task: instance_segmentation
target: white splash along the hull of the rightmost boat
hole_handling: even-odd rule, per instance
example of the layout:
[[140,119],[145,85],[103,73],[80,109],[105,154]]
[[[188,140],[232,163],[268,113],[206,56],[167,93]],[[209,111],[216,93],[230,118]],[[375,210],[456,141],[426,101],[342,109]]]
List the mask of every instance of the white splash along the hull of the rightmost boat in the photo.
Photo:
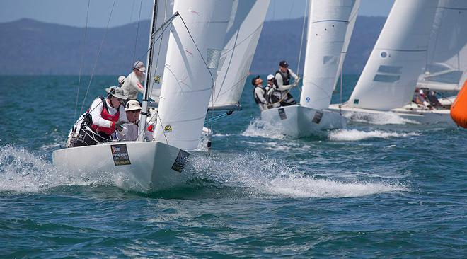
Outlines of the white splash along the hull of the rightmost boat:
[[405,119],[400,117],[396,113],[345,113],[344,117],[347,117],[350,120],[355,122],[366,122],[376,125],[387,125],[387,124],[398,124],[403,125],[407,123],[412,124],[420,124],[420,122],[416,122],[414,120]]

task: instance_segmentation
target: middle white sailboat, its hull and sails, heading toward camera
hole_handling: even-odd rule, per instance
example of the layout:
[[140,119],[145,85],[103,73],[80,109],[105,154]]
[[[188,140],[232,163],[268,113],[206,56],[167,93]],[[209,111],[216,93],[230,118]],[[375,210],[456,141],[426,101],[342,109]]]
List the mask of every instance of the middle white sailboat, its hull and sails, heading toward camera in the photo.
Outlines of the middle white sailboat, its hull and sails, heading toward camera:
[[345,127],[345,117],[328,110],[328,105],[358,8],[359,0],[311,1],[300,103],[263,110],[262,120],[278,125],[282,133],[291,137],[307,137],[324,129]]

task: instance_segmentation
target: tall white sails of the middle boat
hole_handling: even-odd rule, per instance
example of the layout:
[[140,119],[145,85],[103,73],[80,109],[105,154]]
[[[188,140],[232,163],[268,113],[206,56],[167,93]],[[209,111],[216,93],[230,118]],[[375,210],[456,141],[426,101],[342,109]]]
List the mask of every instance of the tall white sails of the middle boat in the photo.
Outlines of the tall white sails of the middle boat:
[[311,1],[304,86],[300,96],[302,106],[328,108],[358,7],[357,0]]

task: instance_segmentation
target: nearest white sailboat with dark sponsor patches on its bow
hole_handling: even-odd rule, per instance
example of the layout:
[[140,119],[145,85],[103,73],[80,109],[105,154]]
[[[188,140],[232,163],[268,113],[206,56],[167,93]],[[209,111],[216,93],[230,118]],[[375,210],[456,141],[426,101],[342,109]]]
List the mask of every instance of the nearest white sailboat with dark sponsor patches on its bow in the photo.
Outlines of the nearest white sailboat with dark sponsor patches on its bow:
[[[171,25],[167,41],[163,87],[158,96],[158,120],[154,141],[107,142],[95,146],[59,149],[52,154],[52,162],[61,171],[76,174],[102,175],[112,173],[125,179],[122,188],[154,192],[185,183],[183,171],[190,151],[197,148],[204,117],[212,93],[219,57],[224,47],[228,17],[233,0],[175,0],[170,17],[154,1],[149,37],[148,71],[144,86],[142,117],[146,122],[148,83],[157,62],[158,28]],[[163,1],[162,1],[163,2]],[[161,11],[163,9],[163,11]],[[165,23],[158,19],[167,18]],[[162,50],[163,51],[163,50]],[[144,130],[146,127],[140,127]]]

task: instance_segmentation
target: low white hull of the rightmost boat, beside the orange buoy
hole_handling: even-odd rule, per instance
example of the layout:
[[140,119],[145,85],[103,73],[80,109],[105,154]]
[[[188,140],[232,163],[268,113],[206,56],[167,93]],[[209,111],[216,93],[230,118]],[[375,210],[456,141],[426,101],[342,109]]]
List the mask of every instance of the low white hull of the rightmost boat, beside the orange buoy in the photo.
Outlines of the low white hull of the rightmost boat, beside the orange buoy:
[[388,111],[384,110],[371,110],[371,109],[363,109],[363,108],[354,108],[348,107],[346,105],[341,105],[339,108],[338,104],[329,105],[329,110],[333,110],[335,112],[341,112],[342,115],[349,118],[350,120],[357,119],[359,121],[362,120],[365,116],[369,117],[369,122],[371,122],[371,118],[374,116],[379,115],[387,115],[388,113],[393,113],[398,115],[399,117],[410,120],[415,123],[422,123],[422,124],[437,124],[443,123],[449,126],[454,126],[454,121],[451,119],[449,109],[434,109],[429,110],[428,108],[420,108],[418,105],[411,104],[405,105],[402,108],[396,108]]

